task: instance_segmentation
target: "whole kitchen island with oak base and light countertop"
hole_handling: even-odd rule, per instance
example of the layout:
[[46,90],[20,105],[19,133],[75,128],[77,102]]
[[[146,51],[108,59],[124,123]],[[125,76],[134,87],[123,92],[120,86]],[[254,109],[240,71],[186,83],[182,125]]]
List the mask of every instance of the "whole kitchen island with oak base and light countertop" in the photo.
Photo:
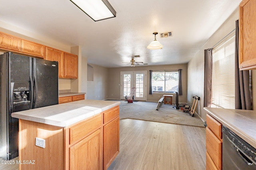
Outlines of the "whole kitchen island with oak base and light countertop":
[[80,100],[12,113],[20,170],[107,169],[119,153],[119,104]]

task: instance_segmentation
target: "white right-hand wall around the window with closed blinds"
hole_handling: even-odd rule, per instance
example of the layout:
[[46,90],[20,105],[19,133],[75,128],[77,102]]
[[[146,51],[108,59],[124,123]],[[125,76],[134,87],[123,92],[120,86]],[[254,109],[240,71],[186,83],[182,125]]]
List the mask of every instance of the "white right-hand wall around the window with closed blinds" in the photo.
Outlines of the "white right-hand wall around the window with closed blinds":
[[[206,121],[206,111],[204,111],[204,49],[212,48],[223,39],[228,33],[236,28],[236,20],[239,18],[238,8],[220,26],[220,28],[208,39],[204,46],[188,63],[188,103],[193,102],[193,96],[199,96],[198,114]],[[206,23],[207,24],[207,23]]]

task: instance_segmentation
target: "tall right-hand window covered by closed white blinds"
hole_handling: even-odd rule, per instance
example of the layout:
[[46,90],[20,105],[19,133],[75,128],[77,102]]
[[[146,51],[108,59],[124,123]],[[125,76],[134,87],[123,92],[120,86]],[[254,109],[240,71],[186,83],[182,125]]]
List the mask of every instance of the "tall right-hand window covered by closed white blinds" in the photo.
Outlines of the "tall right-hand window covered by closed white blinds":
[[212,51],[212,104],[235,108],[235,31]]

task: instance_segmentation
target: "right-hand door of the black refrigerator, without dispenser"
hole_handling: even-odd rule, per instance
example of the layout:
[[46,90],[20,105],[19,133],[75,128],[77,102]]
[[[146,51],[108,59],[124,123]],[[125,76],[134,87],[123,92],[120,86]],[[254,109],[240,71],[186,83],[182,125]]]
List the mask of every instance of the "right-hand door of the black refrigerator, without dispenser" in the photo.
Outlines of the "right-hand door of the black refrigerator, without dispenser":
[[58,104],[58,62],[34,59],[33,108]]

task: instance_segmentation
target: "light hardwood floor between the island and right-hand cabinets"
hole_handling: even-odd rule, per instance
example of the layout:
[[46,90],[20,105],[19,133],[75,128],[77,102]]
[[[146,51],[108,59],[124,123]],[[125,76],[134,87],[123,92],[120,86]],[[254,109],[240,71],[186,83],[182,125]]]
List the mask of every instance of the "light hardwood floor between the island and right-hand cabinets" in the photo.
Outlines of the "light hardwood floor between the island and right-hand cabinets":
[[108,170],[205,170],[205,128],[120,120],[120,153]]

